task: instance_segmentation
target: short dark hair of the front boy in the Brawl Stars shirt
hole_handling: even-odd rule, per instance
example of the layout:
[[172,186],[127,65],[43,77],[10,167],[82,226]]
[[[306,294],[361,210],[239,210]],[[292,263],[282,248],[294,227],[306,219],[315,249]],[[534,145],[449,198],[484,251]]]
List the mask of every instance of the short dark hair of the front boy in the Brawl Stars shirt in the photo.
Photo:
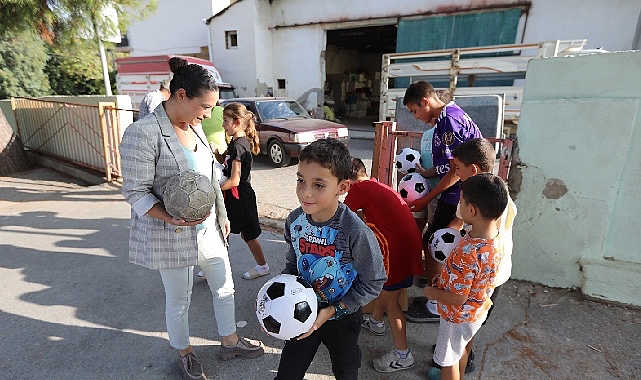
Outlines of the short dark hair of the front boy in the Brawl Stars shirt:
[[338,181],[349,178],[352,168],[352,158],[349,150],[340,141],[332,138],[316,140],[307,145],[301,152],[298,161],[312,161],[329,169]]

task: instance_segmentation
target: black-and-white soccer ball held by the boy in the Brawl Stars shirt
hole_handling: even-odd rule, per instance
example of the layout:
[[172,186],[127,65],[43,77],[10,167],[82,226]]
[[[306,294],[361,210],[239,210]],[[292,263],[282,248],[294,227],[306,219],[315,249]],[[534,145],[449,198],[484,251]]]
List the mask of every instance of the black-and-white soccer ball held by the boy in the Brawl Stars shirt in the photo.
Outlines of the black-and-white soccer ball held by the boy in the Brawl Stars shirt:
[[291,274],[270,279],[258,291],[258,322],[269,335],[278,339],[289,340],[309,331],[317,311],[314,289]]

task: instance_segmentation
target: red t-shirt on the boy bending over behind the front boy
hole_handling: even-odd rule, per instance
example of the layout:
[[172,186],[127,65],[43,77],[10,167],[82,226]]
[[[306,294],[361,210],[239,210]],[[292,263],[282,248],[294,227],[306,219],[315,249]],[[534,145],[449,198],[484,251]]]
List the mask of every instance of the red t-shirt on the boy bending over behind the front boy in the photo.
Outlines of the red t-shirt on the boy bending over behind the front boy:
[[345,205],[362,210],[383,253],[387,282],[397,284],[423,273],[423,242],[416,221],[401,196],[375,178],[350,186]]

